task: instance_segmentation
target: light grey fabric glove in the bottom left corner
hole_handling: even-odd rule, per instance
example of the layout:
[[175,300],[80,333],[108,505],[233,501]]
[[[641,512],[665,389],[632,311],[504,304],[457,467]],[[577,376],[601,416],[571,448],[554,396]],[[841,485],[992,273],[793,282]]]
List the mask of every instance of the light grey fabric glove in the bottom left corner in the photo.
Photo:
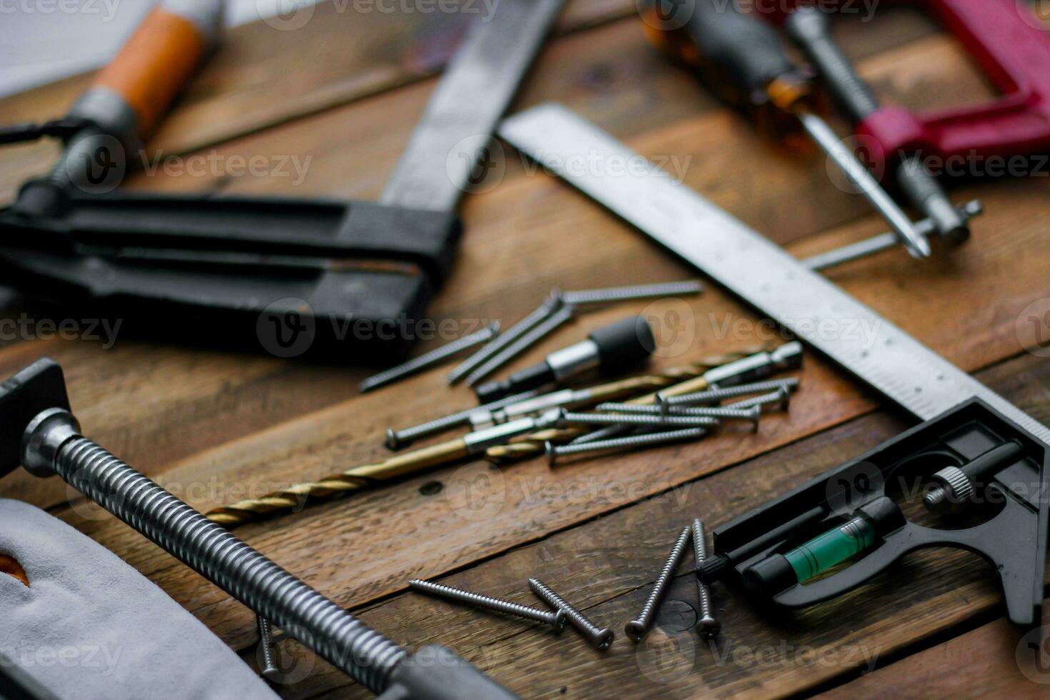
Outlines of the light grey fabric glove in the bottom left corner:
[[0,500],[0,652],[60,698],[277,697],[164,591],[39,508]]

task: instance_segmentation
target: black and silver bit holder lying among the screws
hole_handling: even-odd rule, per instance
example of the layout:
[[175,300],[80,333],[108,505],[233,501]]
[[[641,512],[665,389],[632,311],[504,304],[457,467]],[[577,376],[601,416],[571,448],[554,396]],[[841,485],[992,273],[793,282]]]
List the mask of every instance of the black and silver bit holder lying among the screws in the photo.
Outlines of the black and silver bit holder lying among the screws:
[[512,374],[503,381],[488,382],[476,391],[481,403],[566,381],[597,369],[603,377],[624,372],[647,359],[656,348],[652,328],[644,316],[628,316],[594,331],[587,340],[548,355],[543,362]]

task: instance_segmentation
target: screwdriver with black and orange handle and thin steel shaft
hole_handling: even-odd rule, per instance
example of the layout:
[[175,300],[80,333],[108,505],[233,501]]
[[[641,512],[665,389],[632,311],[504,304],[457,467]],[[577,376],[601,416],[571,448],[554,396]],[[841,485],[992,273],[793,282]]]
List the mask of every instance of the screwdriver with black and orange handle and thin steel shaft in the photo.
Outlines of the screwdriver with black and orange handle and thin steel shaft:
[[759,132],[788,144],[802,132],[842,169],[889,222],[907,251],[928,257],[929,241],[867,168],[819,115],[810,76],[794,64],[776,30],[741,13],[734,2],[647,0],[643,20],[649,39],[693,67],[701,82],[755,122]]

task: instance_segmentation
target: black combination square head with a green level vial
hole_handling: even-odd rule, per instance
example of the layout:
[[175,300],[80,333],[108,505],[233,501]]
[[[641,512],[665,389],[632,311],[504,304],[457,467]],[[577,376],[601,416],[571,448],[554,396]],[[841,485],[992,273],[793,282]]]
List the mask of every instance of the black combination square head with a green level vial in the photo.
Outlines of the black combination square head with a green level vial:
[[[1014,624],[1037,625],[1048,465],[1047,445],[974,398],[717,528],[716,554],[699,574],[795,609],[852,591],[915,550],[959,548],[994,567]],[[983,496],[961,510],[984,519],[960,529],[905,519],[894,499],[915,485],[943,489],[949,467],[966,473]],[[835,569],[843,563],[849,564]]]

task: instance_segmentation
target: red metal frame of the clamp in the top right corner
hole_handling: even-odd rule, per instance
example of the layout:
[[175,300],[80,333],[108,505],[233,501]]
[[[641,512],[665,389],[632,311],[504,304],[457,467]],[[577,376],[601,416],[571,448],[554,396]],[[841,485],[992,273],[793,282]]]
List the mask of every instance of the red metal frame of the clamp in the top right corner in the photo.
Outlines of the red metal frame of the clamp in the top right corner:
[[1002,92],[991,102],[915,113],[880,109],[857,125],[884,153],[952,156],[1050,151],[1050,34],[1015,0],[907,0],[928,6]]

